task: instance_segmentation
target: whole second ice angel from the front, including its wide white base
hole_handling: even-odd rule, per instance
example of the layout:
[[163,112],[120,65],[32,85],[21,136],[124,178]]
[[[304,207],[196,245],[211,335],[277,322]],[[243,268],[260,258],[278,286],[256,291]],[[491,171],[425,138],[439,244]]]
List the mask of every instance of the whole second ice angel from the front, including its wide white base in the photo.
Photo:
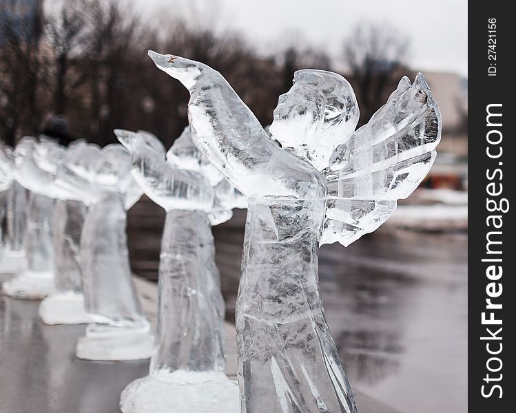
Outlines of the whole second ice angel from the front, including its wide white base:
[[237,413],[238,385],[225,373],[224,301],[211,225],[245,206],[193,144],[189,128],[166,153],[147,132],[115,131],[132,173],[167,212],[159,265],[158,332],[149,375],[127,385],[123,413]]

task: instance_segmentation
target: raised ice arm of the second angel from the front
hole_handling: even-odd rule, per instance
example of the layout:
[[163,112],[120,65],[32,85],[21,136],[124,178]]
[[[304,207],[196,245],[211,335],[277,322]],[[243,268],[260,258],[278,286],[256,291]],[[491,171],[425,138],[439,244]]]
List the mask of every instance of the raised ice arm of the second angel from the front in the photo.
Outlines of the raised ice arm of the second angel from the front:
[[169,165],[141,134],[121,129],[116,129],[115,134],[131,152],[134,179],[156,204],[167,211],[211,209],[214,191],[203,176]]

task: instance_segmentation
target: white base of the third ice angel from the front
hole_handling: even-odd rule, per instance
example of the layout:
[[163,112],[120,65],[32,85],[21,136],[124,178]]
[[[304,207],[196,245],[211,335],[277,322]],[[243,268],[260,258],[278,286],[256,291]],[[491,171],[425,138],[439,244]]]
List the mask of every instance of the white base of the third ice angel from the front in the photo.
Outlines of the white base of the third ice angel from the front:
[[85,360],[123,361],[148,359],[154,337],[149,328],[121,328],[90,324],[77,341],[77,357]]

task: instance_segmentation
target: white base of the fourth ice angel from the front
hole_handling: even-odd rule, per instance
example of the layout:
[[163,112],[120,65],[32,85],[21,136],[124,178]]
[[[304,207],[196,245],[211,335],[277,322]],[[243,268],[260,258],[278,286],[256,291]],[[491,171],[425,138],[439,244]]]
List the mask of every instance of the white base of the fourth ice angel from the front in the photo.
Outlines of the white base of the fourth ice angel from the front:
[[88,324],[93,320],[84,309],[84,297],[81,293],[56,293],[46,297],[39,305],[39,317],[43,323]]

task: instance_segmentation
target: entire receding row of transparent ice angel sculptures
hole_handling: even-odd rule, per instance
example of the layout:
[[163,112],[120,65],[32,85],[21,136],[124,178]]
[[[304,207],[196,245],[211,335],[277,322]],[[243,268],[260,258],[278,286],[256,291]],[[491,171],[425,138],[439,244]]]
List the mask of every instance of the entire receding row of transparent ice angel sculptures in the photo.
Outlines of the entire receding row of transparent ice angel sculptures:
[[[122,145],[103,149],[33,138],[1,148],[0,271],[18,271],[3,291],[46,297],[46,324],[89,323],[79,358],[151,358],[149,375],[122,393],[124,413],[356,412],[324,319],[318,248],[375,231],[426,176],[441,131],[426,81],[402,78],[355,130],[351,85],[300,70],[267,132],[215,70],[149,56],[191,95],[189,127],[169,151],[152,134],[123,130],[114,131]],[[143,193],[167,213],[154,345],[125,235],[126,211]],[[237,385],[224,373],[211,226],[245,207]]]

